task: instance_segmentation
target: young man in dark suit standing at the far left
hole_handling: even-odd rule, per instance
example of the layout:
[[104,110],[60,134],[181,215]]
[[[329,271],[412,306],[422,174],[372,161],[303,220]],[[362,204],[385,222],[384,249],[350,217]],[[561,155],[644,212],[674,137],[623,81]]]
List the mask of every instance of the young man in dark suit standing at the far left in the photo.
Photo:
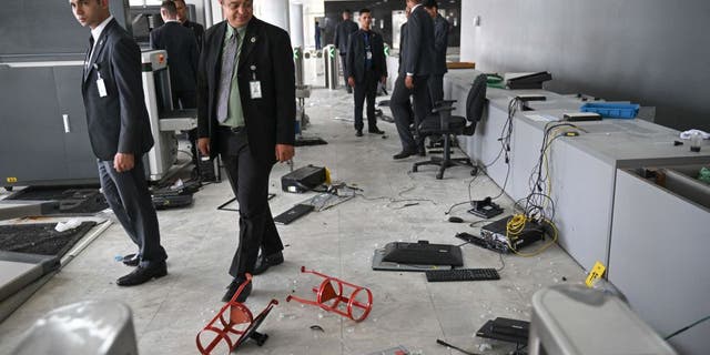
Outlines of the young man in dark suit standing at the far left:
[[70,0],[70,4],[79,23],[91,28],[81,92],[101,187],[139,247],[135,257],[124,257],[126,265],[138,267],[116,284],[138,285],[168,274],[142,163],[153,136],[141,84],[141,51],[109,12],[109,0]]

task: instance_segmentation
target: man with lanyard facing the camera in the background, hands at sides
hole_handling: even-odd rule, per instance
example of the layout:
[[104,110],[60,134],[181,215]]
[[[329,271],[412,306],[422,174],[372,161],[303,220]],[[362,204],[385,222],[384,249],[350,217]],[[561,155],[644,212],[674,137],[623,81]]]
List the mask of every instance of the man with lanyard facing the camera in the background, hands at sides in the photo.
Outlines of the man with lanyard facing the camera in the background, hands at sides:
[[363,136],[363,103],[367,98],[367,130],[384,134],[377,128],[375,95],[377,82],[387,81],[387,62],[382,36],[371,31],[369,9],[359,10],[361,30],[351,34],[347,44],[347,84],[355,89],[355,135]]

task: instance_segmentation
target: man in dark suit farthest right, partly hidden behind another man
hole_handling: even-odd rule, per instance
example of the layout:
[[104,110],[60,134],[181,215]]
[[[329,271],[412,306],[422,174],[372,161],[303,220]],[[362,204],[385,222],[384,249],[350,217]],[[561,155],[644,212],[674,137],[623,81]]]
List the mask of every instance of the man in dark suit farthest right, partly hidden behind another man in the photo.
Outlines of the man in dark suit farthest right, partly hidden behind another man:
[[429,77],[429,97],[432,104],[444,100],[444,74],[448,72],[446,68],[446,48],[448,45],[448,21],[439,14],[436,0],[425,0],[424,8],[434,19],[434,51],[436,60],[434,72]]

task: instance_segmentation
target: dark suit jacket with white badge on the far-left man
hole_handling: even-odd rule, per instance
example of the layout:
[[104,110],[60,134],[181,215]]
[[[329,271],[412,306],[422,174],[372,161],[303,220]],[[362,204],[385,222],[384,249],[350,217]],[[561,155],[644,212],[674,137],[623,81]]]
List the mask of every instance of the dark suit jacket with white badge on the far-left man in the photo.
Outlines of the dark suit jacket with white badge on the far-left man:
[[[103,161],[113,160],[119,152],[140,159],[153,146],[143,97],[141,50],[115,20],[106,24],[98,41],[81,85],[91,148]],[[91,48],[85,61],[90,53]],[[103,98],[99,94],[99,75],[106,91]]]

